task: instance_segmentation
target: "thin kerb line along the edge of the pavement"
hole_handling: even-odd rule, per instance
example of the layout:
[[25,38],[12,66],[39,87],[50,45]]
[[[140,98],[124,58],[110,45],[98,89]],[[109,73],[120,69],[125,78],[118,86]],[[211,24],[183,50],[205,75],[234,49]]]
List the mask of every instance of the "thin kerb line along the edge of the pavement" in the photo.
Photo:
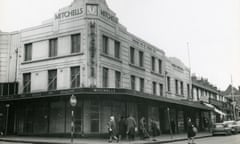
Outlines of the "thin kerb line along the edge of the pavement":
[[[212,135],[206,135],[206,136],[200,136],[196,137],[195,139],[202,139],[202,138],[207,138],[207,137],[212,137]],[[179,139],[171,139],[171,140],[164,140],[164,141],[151,141],[151,142],[145,142],[142,144],[164,144],[164,143],[171,143],[171,142],[178,142],[178,141],[185,141],[187,138],[179,138]],[[17,143],[33,143],[33,144],[66,144],[66,143],[56,143],[56,142],[38,142],[38,141],[26,141],[26,140],[10,140],[10,139],[4,139],[0,138],[0,141],[3,142],[17,142]],[[85,143],[77,143],[77,144],[85,144]]]

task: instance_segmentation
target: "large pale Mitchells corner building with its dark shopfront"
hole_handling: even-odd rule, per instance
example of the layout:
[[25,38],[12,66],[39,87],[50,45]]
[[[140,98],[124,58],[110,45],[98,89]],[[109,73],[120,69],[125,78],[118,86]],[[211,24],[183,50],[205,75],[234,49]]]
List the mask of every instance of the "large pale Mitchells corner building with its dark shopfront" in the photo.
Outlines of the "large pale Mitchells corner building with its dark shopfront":
[[189,101],[189,69],[129,33],[105,0],[74,0],[42,25],[5,37],[3,59],[13,68],[3,74],[18,82],[18,94],[0,97],[8,134],[70,134],[71,95],[79,136],[106,134],[111,115],[153,119],[161,133],[172,120],[176,132],[186,131],[188,117],[207,127],[211,108]]

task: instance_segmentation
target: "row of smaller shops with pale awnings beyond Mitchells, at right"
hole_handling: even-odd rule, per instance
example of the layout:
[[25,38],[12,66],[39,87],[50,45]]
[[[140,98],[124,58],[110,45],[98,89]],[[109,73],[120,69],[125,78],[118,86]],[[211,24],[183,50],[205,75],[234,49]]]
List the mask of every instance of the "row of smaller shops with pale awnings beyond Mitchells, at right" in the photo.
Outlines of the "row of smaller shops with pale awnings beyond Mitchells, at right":
[[192,96],[193,101],[201,101],[206,106],[213,108],[212,122],[233,119],[232,101],[207,79],[192,77]]

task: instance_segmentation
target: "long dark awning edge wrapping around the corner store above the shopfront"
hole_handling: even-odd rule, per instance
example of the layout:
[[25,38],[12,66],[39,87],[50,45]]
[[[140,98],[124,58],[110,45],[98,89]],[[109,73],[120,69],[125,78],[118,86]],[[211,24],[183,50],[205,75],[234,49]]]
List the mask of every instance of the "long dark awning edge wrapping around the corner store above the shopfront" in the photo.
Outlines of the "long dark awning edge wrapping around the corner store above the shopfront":
[[206,105],[200,102],[193,102],[188,100],[177,100],[172,98],[167,98],[163,96],[156,96],[152,94],[142,93],[138,91],[133,91],[129,89],[112,89],[112,88],[78,88],[78,89],[67,89],[67,90],[57,90],[57,91],[46,91],[46,92],[37,92],[37,93],[28,93],[13,95],[1,98],[1,101],[10,101],[10,100],[23,100],[23,99],[37,99],[37,98],[46,98],[46,97],[60,97],[60,96],[71,96],[71,95],[111,95],[111,97],[119,98],[129,98],[129,97],[138,97],[144,98],[147,100],[154,100],[158,102],[164,102],[169,104],[177,104],[181,106],[201,109],[205,111],[211,111],[212,108],[207,107]]

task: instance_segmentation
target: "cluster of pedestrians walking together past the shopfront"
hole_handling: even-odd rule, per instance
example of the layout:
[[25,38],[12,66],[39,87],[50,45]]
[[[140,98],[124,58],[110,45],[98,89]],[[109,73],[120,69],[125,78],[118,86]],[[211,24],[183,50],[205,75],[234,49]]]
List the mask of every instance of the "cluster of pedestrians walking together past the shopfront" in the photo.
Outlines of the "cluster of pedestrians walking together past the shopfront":
[[[140,119],[138,127],[136,120],[132,115],[129,115],[126,118],[122,116],[118,122],[116,122],[114,116],[111,116],[107,123],[107,127],[109,143],[113,141],[119,142],[122,139],[133,141],[137,133],[139,133],[141,139],[150,138],[145,117]],[[150,133],[152,134],[154,141],[156,140],[154,137],[160,134],[157,121],[154,121],[153,119],[150,120]]]

